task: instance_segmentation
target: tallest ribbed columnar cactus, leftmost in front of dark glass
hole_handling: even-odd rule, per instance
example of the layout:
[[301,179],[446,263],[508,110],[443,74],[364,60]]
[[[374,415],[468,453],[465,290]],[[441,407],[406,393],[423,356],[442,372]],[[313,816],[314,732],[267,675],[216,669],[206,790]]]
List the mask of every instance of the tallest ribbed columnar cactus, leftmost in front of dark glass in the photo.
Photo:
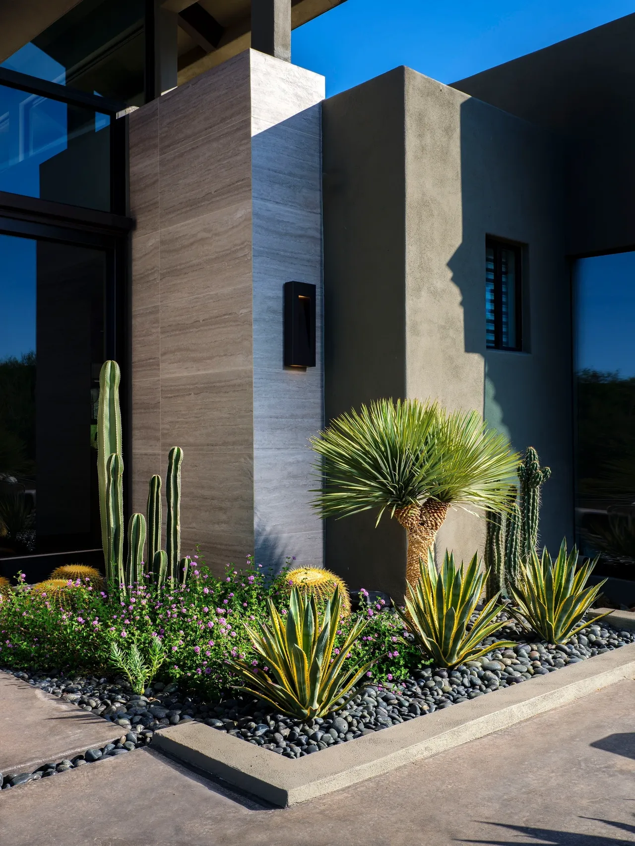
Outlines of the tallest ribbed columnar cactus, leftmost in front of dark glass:
[[119,410],[119,382],[121,374],[116,361],[106,361],[99,374],[99,409],[97,412],[97,479],[99,486],[99,514],[102,522],[102,548],[108,573],[108,510],[106,504],[106,463],[113,453],[121,455],[121,412]]

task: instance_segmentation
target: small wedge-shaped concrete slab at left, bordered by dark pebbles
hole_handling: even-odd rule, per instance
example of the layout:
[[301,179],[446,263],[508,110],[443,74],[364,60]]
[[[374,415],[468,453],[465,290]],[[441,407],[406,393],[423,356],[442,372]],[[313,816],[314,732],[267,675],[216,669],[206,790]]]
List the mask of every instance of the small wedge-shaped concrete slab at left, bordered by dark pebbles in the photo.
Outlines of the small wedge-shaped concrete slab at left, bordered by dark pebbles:
[[0,673],[0,772],[29,772],[120,736],[112,722]]

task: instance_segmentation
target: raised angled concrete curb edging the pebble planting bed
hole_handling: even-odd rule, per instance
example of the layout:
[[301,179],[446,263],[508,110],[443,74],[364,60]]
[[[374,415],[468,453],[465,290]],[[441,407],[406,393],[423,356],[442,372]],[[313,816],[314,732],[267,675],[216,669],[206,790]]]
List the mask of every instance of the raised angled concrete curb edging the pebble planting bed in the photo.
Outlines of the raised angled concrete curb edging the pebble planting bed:
[[[635,628],[635,614],[631,619]],[[618,624],[613,615],[607,622]],[[621,618],[619,625],[627,628]],[[295,761],[202,722],[157,732],[152,748],[285,807],[508,728],[624,678],[635,678],[635,644]]]

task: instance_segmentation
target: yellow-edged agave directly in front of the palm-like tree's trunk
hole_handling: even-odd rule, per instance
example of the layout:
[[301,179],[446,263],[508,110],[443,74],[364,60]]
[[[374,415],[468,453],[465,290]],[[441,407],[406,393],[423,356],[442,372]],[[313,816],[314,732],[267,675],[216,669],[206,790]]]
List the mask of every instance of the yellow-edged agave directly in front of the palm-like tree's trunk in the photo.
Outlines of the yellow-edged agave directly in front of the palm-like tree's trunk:
[[419,648],[436,666],[456,667],[494,649],[513,646],[509,640],[482,644],[502,625],[496,619],[503,610],[498,602],[500,594],[493,596],[472,621],[488,576],[480,569],[476,555],[465,569],[462,561],[456,568],[454,555],[445,552],[443,566],[437,573],[432,552],[428,551],[428,563],[421,562],[419,572],[417,584],[408,585],[406,611],[397,608],[397,612]]

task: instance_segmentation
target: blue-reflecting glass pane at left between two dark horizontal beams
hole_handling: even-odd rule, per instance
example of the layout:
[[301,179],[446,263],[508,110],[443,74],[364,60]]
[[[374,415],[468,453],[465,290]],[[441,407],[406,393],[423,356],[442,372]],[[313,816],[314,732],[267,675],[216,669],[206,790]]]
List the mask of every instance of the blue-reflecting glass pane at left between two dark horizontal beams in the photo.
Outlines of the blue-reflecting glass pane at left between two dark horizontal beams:
[[0,190],[110,211],[108,123],[0,85]]

